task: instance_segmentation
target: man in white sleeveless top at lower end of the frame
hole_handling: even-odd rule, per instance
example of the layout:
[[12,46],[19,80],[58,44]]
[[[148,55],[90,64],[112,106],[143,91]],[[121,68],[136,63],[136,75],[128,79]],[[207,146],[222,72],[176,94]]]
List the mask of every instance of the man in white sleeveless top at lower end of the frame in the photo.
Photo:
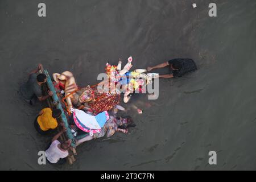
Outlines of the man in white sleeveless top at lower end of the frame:
[[71,140],[65,142],[59,142],[58,138],[61,134],[65,132],[66,129],[63,129],[52,138],[52,143],[49,148],[46,150],[46,159],[52,164],[64,164],[66,162],[65,158],[68,156],[68,149],[71,146]]

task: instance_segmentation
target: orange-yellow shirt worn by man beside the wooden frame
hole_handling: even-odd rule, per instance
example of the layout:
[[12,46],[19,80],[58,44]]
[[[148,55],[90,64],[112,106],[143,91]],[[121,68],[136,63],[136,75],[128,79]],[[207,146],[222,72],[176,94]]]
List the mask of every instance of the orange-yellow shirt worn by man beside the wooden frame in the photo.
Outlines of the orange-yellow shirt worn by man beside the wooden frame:
[[57,120],[52,117],[51,108],[47,107],[42,109],[42,114],[38,116],[38,125],[40,129],[43,131],[47,131],[49,129],[56,129],[58,126]]

